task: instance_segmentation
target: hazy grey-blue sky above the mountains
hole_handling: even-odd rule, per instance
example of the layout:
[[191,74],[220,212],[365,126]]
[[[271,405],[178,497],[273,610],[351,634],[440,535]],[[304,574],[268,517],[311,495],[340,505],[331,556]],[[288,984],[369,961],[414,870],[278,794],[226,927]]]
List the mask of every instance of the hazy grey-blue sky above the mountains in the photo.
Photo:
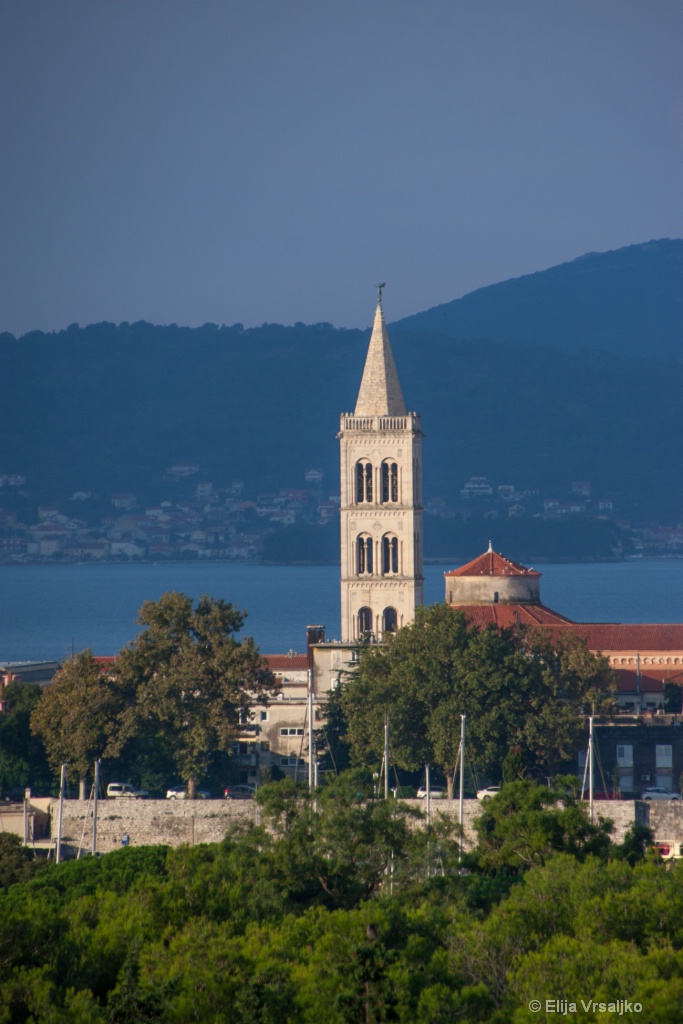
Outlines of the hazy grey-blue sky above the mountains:
[[683,236],[681,0],[0,0],[0,330],[366,326]]

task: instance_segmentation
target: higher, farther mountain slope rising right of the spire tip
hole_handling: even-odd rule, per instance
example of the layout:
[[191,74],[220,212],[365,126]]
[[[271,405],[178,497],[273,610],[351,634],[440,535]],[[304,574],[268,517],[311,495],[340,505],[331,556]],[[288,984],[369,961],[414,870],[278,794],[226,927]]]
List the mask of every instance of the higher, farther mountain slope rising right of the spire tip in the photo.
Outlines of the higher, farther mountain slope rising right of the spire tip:
[[588,253],[391,325],[510,344],[683,358],[683,240]]

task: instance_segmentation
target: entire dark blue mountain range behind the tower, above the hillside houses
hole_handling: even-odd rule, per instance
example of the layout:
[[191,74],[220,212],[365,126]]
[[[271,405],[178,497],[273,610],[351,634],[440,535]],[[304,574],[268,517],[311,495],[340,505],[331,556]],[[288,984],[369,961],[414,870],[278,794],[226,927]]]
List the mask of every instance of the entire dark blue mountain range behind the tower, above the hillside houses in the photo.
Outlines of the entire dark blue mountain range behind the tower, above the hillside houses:
[[[639,275],[647,280],[639,284]],[[681,521],[682,280],[683,242],[648,243],[494,285],[390,326],[405,402],[422,413],[427,435],[426,497],[456,500],[470,476],[549,498],[588,480],[620,514]],[[541,331],[553,294],[556,329]],[[449,318],[453,307],[469,319]],[[522,330],[524,308],[530,327]],[[455,323],[458,337],[447,333]],[[505,337],[482,340],[496,324]],[[0,335],[0,478],[27,476],[35,504],[77,490],[104,502],[135,492],[158,503],[168,497],[165,471],[178,462],[200,465],[216,485],[243,479],[250,495],[300,486],[312,467],[324,472],[325,495],[337,494],[339,415],[354,408],[368,338],[329,324],[144,322]],[[6,497],[0,490],[0,506]]]

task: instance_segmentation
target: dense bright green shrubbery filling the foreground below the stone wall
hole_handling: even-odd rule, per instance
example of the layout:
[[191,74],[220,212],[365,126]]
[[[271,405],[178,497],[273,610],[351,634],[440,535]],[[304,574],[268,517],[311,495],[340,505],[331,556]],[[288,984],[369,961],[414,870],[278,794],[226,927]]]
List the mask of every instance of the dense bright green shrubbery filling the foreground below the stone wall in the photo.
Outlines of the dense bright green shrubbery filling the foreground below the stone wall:
[[459,864],[452,825],[415,828],[370,792],[349,772],[315,809],[274,783],[264,824],[222,844],[17,881],[0,899],[0,1021],[504,1024],[546,1020],[529,999],[584,997],[678,1024],[683,871],[643,858],[642,837],[614,846],[571,797],[516,782]]

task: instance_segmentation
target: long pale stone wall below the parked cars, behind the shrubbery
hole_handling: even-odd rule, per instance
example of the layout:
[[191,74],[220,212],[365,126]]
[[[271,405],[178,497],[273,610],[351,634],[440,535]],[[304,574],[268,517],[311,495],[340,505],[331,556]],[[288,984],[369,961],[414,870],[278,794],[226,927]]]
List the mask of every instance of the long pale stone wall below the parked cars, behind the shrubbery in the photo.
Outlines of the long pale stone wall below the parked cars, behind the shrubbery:
[[[427,810],[424,800],[404,803],[423,813]],[[613,820],[612,837],[618,843],[636,819],[636,806],[638,820],[653,827],[657,839],[683,839],[681,803],[636,805],[631,800],[599,801],[595,804],[595,814]],[[55,841],[58,800],[51,802],[50,810],[52,840]],[[466,800],[463,810],[466,842],[471,846],[474,843],[473,822],[481,813],[481,804],[477,800]],[[458,801],[432,800],[431,813],[434,817],[445,814],[457,820]],[[120,849],[124,836],[128,837],[129,846],[219,843],[232,822],[259,820],[259,809],[253,800],[100,800],[97,805],[97,850],[109,853]],[[84,852],[90,850],[91,804],[84,800],[65,801],[61,837],[67,855],[75,855],[79,845]]]

